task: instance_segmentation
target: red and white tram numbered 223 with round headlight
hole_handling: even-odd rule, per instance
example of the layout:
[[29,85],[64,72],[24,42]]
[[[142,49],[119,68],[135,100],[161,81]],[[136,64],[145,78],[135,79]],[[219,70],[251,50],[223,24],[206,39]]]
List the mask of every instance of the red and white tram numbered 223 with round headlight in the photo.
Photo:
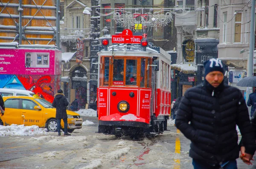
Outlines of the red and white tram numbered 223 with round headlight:
[[[126,29],[128,30],[128,29]],[[129,135],[163,133],[171,111],[171,56],[158,47],[122,44],[99,55],[97,113],[99,133]]]

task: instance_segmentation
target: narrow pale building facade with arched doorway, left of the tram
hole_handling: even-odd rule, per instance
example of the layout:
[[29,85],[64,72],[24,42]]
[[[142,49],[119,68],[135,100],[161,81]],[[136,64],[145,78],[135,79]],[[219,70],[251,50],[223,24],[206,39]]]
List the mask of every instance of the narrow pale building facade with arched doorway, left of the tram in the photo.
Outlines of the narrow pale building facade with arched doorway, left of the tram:
[[84,8],[91,0],[64,0],[61,18],[62,73],[61,86],[70,104],[77,99],[79,109],[90,103],[90,14]]

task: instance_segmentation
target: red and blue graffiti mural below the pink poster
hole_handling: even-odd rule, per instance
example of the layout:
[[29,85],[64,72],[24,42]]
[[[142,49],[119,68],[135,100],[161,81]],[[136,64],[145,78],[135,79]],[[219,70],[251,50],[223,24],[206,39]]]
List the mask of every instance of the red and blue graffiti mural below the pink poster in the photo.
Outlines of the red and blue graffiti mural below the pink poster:
[[55,93],[55,75],[0,74],[0,88],[30,90],[52,103]]

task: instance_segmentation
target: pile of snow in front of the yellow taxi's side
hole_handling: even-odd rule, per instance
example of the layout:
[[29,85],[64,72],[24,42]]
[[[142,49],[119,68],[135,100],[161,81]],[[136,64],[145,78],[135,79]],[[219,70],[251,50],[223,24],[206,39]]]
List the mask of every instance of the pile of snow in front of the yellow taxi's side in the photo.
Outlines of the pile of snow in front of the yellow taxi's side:
[[40,129],[38,126],[24,126],[12,124],[11,126],[0,126],[0,136],[12,135],[46,135],[48,132],[45,129]]

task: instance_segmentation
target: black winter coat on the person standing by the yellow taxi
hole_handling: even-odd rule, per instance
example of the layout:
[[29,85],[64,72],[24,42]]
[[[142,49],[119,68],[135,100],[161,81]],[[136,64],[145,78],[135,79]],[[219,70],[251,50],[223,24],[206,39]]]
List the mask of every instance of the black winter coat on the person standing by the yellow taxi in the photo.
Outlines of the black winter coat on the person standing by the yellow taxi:
[[68,101],[62,93],[56,93],[54,95],[52,106],[56,108],[56,119],[67,118],[66,107],[68,106]]

